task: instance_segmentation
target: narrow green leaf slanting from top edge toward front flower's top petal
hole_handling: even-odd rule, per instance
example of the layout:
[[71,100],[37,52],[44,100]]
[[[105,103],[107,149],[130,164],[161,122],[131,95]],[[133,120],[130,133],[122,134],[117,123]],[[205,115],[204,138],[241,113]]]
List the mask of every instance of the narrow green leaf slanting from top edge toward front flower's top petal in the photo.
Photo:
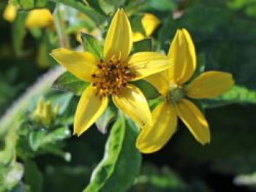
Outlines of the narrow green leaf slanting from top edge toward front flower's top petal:
[[103,15],[99,14],[99,12],[95,11],[93,8],[87,6],[83,1],[80,0],[49,0],[60,4],[65,4],[69,7],[73,7],[78,9],[80,12],[83,12],[87,15],[91,20],[94,20],[95,23],[98,25],[102,23],[105,18]]

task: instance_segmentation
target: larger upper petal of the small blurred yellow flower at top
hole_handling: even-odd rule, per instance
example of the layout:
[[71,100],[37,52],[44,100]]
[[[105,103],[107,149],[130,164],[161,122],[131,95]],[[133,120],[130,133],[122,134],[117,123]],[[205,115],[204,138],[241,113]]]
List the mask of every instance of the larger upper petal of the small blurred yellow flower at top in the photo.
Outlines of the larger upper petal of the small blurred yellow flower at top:
[[141,18],[141,24],[145,30],[146,37],[149,37],[153,34],[157,26],[159,26],[160,20],[156,16],[146,13],[143,15],[143,18]]

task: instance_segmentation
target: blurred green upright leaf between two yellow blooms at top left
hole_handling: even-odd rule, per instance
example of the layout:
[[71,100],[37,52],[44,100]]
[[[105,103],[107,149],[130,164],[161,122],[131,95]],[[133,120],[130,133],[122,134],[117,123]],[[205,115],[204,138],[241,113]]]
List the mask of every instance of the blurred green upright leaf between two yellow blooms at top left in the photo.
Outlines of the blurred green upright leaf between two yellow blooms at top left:
[[16,55],[22,55],[23,40],[26,36],[26,12],[18,12],[12,24],[12,45]]

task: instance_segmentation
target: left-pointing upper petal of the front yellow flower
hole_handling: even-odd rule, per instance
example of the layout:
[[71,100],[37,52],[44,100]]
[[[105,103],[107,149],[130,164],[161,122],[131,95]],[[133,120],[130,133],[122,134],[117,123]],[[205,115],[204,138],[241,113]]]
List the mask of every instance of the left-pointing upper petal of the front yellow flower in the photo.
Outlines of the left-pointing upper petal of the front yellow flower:
[[75,52],[64,48],[53,50],[50,55],[69,72],[87,82],[91,81],[91,74],[97,69],[99,62],[89,52]]

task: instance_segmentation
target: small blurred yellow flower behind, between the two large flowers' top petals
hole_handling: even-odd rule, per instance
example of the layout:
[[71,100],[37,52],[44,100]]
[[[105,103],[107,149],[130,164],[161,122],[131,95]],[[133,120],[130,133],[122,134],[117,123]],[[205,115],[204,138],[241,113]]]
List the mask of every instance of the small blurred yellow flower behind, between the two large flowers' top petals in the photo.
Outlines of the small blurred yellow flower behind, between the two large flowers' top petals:
[[132,34],[132,39],[134,42],[138,42],[146,37],[150,37],[153,34],[154,30],[159,26],[160,20],[150,13],[145,13],[143,18],[141,18],[141,24],[145,31],[145,35],[141,34],[140,32],[134,32]]

